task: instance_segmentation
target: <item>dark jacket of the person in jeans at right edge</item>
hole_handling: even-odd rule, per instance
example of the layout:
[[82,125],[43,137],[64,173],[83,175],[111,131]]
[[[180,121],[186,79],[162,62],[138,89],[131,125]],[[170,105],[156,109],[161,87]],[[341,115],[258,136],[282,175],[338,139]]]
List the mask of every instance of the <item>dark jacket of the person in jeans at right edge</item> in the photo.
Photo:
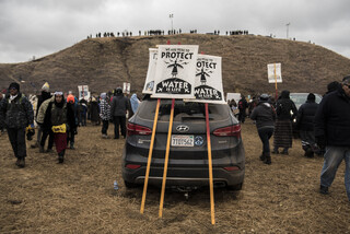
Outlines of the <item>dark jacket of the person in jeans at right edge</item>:
[[325,137],[327,145],[350,147],[350,97],[342,87],[327,94],[319,103],[315,137]]

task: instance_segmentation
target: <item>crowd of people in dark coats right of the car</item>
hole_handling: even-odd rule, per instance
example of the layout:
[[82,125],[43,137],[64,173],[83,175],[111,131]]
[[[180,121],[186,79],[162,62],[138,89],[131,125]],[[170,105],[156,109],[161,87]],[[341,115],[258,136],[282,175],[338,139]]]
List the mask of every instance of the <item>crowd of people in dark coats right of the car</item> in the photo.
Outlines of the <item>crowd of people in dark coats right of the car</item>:
[[[289,154],[293,142],[292,122],[296,119],[294,126],[300,133],[304,156],[313,157],[316,154],[324,157],[319,192],[329,194],[328,188],[345,160],[345,185],[350,201],[350,75],[341,82],[329,83],[327,89],[319,104],[315,102],[315,94],[310,93],[299,109],[288,90],[282,91],[276,102],[268,94],[261,94],[248,103],[242,95],[238,103],[232,101],[230,106],[241,124],[245,122],[249,109],[248,116],[254,120],[262,143],[259,157],[266,164],[271,164],[271,153]],[[272,136],[271,151],[269,140]]]

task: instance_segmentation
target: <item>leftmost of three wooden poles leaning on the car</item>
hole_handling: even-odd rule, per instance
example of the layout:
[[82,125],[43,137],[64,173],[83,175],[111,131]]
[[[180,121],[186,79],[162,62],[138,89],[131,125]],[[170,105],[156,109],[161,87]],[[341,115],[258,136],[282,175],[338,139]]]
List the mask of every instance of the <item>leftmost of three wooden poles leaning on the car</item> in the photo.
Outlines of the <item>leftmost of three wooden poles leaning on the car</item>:
[[140,213],[143,213],[143,210],[144,210],[147,186],[148,186],[149,176],[150,176],[150,167],[151,167],[151,161],[152,161],[152,153],[153,153],[153,145],[154,145],[154,137],[155,137],[155,130],[156,130],[158,116],[159,116],[159,113],[160,113],[160,105],[161,105],[161,98],[158,98],[156,107],[155,107],[155,115],[154,115],[154,120],[153,120],[153,129],[152,129],[151,144],[150,144],[150,151],[149,151],[149,159],[148,159],[148,162],[147,162],[147,169],[145,169],[145,177],[144,177],[144,185],[143,185],[143,194],[142,194],[142,202],[141,202]]

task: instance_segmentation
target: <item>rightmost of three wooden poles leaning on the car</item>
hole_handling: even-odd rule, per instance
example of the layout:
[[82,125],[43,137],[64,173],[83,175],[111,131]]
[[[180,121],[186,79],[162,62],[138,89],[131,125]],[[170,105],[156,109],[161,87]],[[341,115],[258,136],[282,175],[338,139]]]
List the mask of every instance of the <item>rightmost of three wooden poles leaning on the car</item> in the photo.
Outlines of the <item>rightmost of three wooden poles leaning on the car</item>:
[[208,145],[208,166],[209,166],[209,187],[210,187],[210,213],[211,213],[211,224],[214,225],[215,224],[214,188],[213,188],[213,179],[212,179],[212,160],[211,160],[211,141],[210,141],[208,103],[206,103],[206,124],[207,124],[207,145]]

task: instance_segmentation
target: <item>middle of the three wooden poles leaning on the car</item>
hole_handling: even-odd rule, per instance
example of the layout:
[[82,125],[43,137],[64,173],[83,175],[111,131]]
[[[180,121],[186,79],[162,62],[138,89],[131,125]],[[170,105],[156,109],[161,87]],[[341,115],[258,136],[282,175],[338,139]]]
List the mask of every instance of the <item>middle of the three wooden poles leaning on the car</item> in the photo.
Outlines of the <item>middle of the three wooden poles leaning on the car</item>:
[[163,203],[164,203],[164,192],[165,192],[165,184],[166,184],[167,162],[168,162],[168,153],[171,150],[171,138],[172,138],[173,119],[174,119],[174,106],[175,106],[175,98],[172,100],[172,110],[171,110],[168,130],[167,130],[167,142],[166,142],[166,152],[165,152],[165,159],[164,159],[162,194],[161,194],[160,212],[159,212],[160,218],[162,218],[162,215],[163,215]]

